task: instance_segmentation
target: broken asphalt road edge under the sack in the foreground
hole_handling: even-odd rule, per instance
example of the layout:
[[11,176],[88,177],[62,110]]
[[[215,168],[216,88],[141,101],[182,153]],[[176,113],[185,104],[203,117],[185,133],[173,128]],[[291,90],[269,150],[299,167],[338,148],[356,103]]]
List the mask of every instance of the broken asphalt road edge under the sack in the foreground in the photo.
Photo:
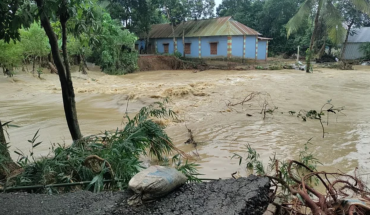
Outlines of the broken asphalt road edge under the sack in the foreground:
[[0,194],[0,214],[246,214],[261,215],[268,205],[267,178],[240,178],[186,184],[167,197],[140,207],[127,205],[131,192],[87,191],[63,195]]

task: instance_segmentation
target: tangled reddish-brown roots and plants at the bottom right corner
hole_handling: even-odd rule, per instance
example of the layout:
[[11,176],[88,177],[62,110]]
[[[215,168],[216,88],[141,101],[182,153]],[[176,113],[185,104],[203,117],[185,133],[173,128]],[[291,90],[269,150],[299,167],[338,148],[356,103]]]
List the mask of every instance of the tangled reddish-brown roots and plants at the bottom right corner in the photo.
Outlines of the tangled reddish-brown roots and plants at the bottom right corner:
[[[279,160],[270,157],[267,167],[257,151],[247,145],[247,157],[234,154],[239,165],[259,176],[268,177],[272,186],[271,202],[280,199],[279,214],[367,214],[369,191],[355,174],[318,171],[320,161],[310,152],[307,141],[299,152],[298,160]],[[236,173],[233,174],[233,177]],[[320,187],[325,193],[320,192]],[[356,201],[356,203],[353,203]],[[275,201],[276,202],[276,201]]]

